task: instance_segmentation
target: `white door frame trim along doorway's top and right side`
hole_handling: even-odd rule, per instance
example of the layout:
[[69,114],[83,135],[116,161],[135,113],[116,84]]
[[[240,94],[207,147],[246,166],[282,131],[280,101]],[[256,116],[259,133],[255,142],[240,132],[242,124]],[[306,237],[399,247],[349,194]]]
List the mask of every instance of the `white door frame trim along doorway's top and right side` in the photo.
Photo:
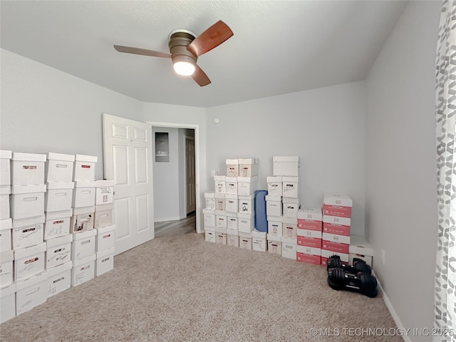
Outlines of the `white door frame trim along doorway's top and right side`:
[[[202,233],[204,230],[201,227],[201,196],[199,196],[199,125],[191,123],[160,123],[156,121],[146,121],[147,124],[153,127],[166,127],[166,128],[190,128],[195,130],[195,195],[197,199],[197,207],[195,210],[196,215],[196,230],[197,233]],[[154,198],[155,201],[155,198]]]

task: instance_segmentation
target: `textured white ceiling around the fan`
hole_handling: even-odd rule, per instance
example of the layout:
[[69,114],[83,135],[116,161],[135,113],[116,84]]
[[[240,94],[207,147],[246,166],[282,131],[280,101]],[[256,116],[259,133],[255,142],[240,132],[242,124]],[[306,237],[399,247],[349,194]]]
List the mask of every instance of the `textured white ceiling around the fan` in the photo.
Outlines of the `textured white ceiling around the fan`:
[[[5,1],[1,48],[145,102],[211,107],[359,81],[405,1]],[[168,34],[222,20],[234,36],[200,56],[212,83],[177,76]]]

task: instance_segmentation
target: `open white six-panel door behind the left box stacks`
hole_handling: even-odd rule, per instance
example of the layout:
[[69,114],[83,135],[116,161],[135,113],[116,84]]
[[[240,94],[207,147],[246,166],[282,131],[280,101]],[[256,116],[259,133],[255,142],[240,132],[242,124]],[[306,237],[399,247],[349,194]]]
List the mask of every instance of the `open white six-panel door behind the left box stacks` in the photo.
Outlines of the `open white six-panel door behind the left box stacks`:
[[115,254],[154,238],[152,129],[103,114],[105,179],[114,180]]

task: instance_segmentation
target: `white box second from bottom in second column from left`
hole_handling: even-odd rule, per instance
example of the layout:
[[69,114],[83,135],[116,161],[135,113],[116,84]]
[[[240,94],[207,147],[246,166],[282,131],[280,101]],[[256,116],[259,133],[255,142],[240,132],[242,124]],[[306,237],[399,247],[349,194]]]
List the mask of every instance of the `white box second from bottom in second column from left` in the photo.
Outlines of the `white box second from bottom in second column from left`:
[[44,271],[46,243],[14,251],[14,278],[16,282]]

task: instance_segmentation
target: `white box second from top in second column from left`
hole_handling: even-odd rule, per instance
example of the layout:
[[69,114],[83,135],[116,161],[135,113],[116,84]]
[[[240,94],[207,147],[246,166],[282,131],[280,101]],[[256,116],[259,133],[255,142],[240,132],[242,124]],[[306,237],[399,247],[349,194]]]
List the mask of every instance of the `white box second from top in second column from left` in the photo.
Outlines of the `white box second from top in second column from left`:
[[46,185],[13,185],[11,187],[11,218],[25,219],[44,214]]

